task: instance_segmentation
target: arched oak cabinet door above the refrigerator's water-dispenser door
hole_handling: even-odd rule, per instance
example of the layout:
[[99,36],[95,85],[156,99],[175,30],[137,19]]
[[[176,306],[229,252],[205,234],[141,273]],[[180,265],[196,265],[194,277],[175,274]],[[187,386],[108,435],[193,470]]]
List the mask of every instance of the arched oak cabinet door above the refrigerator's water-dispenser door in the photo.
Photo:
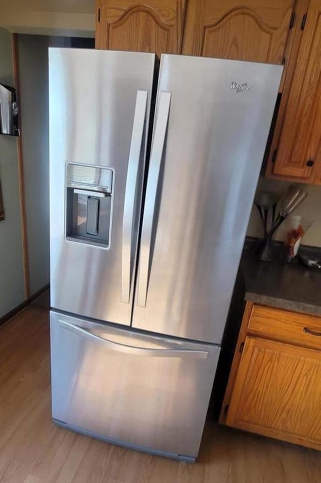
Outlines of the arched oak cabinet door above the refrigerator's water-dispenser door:
[[186,0],[97,0],[96,49],[179,54]]

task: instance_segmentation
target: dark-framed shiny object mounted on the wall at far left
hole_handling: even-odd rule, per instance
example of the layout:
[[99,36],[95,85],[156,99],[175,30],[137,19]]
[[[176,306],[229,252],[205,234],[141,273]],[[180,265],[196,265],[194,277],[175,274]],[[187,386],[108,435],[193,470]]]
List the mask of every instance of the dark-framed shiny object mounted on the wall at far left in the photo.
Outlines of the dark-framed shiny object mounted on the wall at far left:
[[0,134],[19,136],[16,89],[0,84]]

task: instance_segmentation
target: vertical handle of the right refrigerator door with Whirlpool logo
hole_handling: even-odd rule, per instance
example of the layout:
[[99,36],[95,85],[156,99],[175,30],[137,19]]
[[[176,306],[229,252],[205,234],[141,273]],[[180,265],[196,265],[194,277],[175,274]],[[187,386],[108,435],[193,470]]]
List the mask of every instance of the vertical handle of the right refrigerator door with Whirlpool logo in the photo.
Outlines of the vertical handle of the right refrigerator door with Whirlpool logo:
[[169,120],[170,104],[171,92],[161,92],[159,94],[158,112],[151,146],[140,240],[137,304],[141,307],[145,307],[146,305],[152,223],[154,217],[159,171],[161,169],[166,131]]

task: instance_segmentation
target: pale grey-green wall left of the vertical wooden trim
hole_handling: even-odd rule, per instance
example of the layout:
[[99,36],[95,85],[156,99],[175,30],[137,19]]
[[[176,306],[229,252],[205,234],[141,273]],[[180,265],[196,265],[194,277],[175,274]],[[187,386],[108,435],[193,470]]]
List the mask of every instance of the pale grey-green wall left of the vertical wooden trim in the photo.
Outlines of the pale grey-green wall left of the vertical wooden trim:
[[[0,83],[14,85],[11,34],[0,28]],[[0,135],[0,317],[25,299],[16,137]]]

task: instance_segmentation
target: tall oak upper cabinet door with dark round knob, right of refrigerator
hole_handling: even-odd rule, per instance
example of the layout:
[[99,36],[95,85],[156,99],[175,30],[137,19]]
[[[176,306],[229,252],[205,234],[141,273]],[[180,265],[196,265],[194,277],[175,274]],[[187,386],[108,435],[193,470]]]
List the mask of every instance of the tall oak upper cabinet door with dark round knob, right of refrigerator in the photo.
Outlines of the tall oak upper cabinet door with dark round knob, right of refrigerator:
[[318,171],[321,148],[320,59],[321,2],[311,0],[272,168],[275,175],[312,183]]

